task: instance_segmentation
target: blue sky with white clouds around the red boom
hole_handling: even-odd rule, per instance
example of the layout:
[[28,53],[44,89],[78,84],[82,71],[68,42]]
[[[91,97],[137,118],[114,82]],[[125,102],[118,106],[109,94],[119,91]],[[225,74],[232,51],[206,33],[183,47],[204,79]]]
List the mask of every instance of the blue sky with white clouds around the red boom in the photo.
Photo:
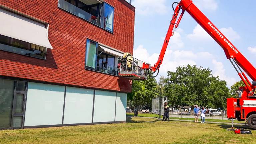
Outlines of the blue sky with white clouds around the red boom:
[[[133,0],[135,12],[134,57],[151,65],[157,62],[163,39],[170,24],[174,0]],[[178,1],[179,2],[179,1]],[[215,24],[237,49],[255,66],[256,1],[194,0],[194,4]],[[160,75],[183,65],[209,67],[214,76],[230,87],[240,78],[223,49],[185,13],[171,37],[160,67]],[[157,78],[158,80],[158,78]]]

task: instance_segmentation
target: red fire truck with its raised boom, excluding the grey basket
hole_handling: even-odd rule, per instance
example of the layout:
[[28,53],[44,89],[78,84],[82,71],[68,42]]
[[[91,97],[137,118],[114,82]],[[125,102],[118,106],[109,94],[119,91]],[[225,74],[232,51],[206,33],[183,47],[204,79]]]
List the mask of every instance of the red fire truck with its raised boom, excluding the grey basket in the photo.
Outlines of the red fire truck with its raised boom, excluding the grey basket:
[[[240,121],[246,119],[249,126],[256,128],[256,69],[255,67],[242,55],[242,53],[224,36],[224,34],[193,4],[192,0],[181,0],[177,4],[172,16],[172,20],[166,34],[162,50],[160,52],[158,61],[151,66],[143,63],[143,69],[147,70],[149,74],[159,71],[160,65],[163,62],[164,54],[169,43],[170,37],[174,35],[175,29],[179,26],[184,12],[188,12],[198,24],[223,48],[227,59],[234,66],[239,77],[245,84],[239,90],[238,98],[227,99],[227,117],[232,119],[237,118]],[[179,14],[180,13],[180,14]],[[245,73],[253,80],[251,83],[246,77]],[[247,84],[248,83],[248,84]]]

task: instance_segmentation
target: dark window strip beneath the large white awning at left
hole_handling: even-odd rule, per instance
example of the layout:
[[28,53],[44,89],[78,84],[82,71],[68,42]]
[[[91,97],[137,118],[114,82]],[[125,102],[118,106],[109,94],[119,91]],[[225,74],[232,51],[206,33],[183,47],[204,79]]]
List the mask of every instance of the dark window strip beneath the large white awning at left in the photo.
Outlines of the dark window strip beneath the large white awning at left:
[[46,47],[0,35],[0,50],[45,59],[46,49]]

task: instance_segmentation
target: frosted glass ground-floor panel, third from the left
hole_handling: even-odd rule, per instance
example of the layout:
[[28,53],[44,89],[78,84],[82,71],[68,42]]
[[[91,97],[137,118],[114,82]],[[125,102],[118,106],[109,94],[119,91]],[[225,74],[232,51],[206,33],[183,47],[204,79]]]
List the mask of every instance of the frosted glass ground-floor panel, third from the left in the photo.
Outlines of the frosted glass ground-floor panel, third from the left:
[[116,93],[95,90],[93,122],[115,121]]

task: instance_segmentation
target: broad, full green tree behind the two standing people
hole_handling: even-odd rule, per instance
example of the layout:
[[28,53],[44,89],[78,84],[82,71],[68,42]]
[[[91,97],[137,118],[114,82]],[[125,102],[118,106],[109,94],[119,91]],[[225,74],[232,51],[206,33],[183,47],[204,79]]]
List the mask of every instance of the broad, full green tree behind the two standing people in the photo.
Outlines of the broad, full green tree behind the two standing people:
[[226,107],[230,97],[226,82],[214,77],[209,68],[187,65],[167,72],[165,95],[172,107],[200,105],[208,108]]

